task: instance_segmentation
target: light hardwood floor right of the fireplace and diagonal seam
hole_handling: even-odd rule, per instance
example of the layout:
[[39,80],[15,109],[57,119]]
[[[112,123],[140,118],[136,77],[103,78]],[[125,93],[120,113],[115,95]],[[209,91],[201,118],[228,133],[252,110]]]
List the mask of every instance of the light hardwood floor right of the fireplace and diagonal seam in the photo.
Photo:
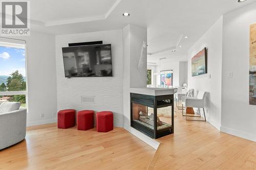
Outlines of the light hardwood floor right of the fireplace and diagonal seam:
[[162,138],[147,170],[256,169],[256,142],[222,133],[207,122],[186,121],[175,109],[175,133]]

